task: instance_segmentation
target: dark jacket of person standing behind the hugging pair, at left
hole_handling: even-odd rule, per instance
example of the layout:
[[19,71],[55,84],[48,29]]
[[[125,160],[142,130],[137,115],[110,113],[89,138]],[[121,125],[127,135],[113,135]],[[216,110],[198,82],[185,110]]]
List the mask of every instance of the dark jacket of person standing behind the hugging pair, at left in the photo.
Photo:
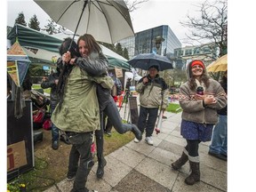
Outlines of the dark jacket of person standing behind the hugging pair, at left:
[[59,78],[59,73],[52,73],[48,76],[46,81],[43,81],[41,87],[43,89],[51,88],[50,100],[52,105],[57,105],[59,102],[58,94],[57,94],[57,84],[55,84],[55,80]]

